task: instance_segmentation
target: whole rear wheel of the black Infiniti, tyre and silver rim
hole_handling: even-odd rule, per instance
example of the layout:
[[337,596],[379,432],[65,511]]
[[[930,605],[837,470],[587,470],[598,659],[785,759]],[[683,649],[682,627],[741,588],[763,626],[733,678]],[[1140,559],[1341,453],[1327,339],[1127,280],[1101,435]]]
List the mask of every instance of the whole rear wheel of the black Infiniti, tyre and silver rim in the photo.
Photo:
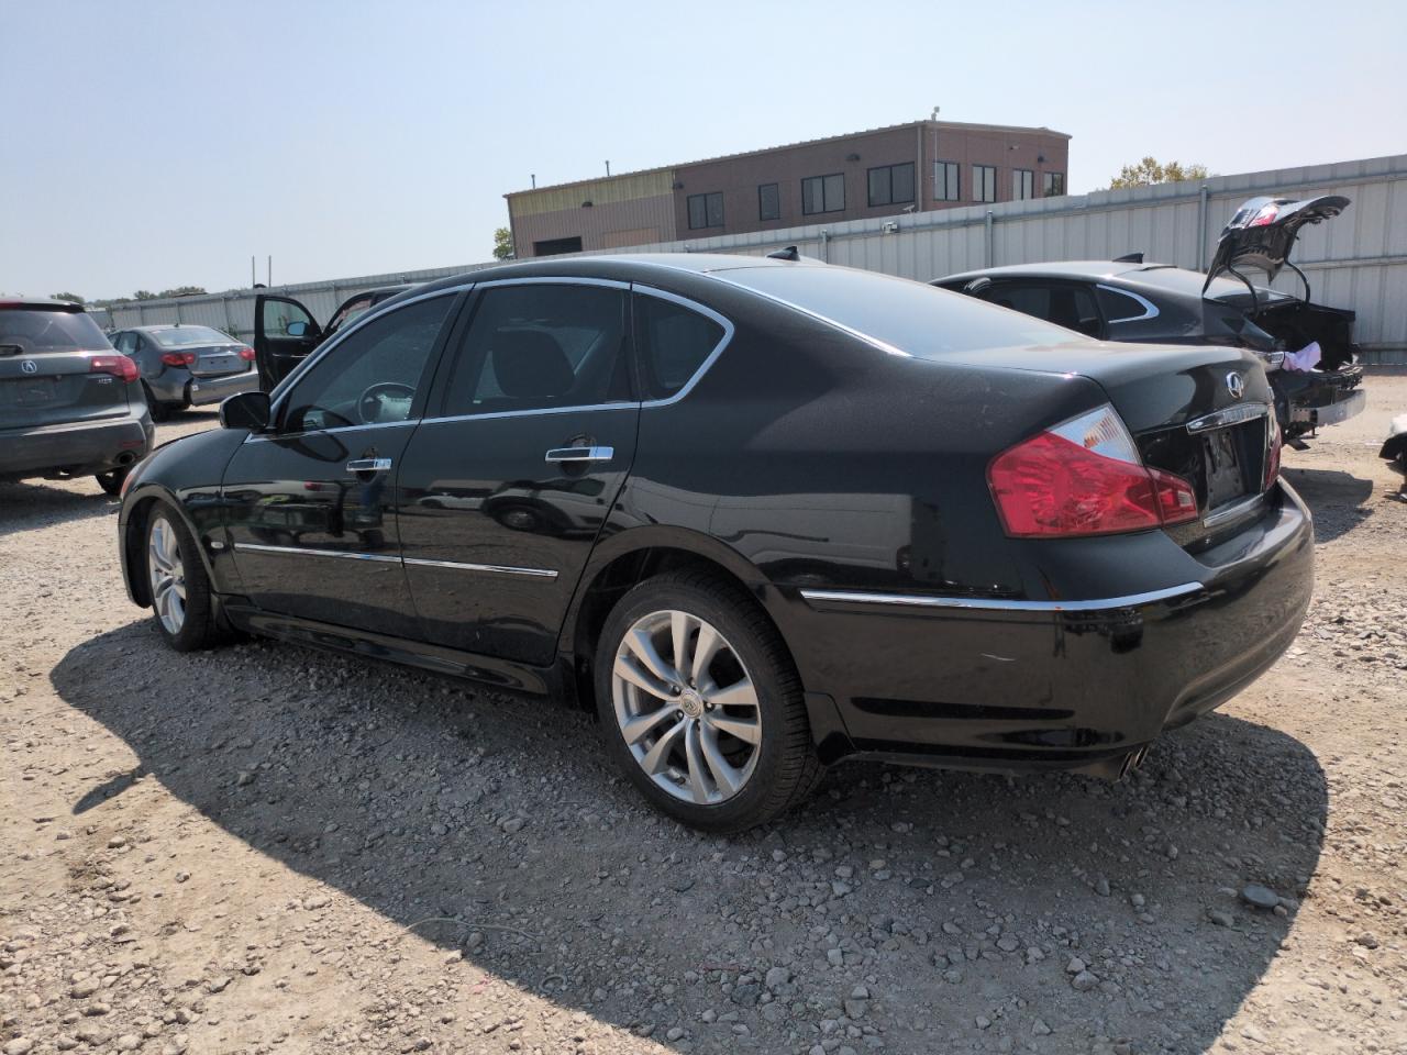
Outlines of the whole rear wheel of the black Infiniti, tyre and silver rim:
[[661,813],[733,834],[810,795],[823,768],[801,678],[741,591],[701,573],[635,587],[595,657],[606,750]]

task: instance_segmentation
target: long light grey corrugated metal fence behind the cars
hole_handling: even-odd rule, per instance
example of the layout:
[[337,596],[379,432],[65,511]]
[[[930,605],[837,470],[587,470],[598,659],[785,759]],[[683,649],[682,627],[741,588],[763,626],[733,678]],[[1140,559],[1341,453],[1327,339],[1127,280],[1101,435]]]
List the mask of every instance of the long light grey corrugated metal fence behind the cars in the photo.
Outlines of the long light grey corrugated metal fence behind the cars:
[[[1356,335],[1368,362],[1407,363],[1407,155],[611,252],[761,255],[798,245],[802,253],[829,263],[919,280],[995,264],[1109,260],[1138,250],[1147,260],[1202,270],[1237,205],[1258,194],[1344,194],[1352,200],[1344,215],[1306,229],[1293,259],[1313,283],[1316,301],[1358,312]],[[325,321],[356,290],[487,266],[339,279],[276,291],[301,300]],[[1296,290],[1299,279],[1286,270],[1275,284]],[[253,291],[144,301],[111,309],[117,326],[176,322],[177,312],[183,322],[204,322],[248,338],[253,326]]]

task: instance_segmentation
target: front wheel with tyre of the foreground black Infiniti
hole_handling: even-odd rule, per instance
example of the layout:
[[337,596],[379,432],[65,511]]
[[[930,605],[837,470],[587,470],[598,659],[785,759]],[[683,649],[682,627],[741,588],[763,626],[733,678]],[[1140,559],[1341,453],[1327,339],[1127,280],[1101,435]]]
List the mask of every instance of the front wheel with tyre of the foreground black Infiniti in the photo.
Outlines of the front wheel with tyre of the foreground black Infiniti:
[[179,653],[208,648],[225,640],[211,598],[210,577],[196,539],[180,515],[165,502],[146,519],[146,581],[156,629]]

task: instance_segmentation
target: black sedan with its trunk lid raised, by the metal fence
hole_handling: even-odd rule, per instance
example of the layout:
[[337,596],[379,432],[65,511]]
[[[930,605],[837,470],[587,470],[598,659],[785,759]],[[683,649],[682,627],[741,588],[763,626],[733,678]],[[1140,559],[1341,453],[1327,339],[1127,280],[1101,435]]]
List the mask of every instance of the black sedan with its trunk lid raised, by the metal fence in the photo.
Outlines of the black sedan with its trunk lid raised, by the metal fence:
[[[1304,225],[1337,217],[1348,204],[1337,196],[1251,198],[1221,232],[1206,274],[1144,263],[1134,253],[988,267],[933,284],[1104,340],[1248,347],[1271,371],[1285,440],[1303,449],[1304,436],[1361,414],[1368,401],[1354,312],[1311,302],[1309,279],[1289,260]],[[1273,280],[1285,267],[1303,280],[1303,298],[1245,276],[1258,269]]]

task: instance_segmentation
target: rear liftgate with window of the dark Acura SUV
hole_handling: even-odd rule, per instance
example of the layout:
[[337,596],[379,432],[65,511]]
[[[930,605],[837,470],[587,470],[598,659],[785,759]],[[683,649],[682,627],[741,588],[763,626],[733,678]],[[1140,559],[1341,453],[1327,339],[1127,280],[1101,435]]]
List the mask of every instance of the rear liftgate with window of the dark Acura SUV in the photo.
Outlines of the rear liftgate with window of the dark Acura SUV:
[[93,367],[118,354],[77,305],[0,302],[0,429],[127,414],[128,385]]

